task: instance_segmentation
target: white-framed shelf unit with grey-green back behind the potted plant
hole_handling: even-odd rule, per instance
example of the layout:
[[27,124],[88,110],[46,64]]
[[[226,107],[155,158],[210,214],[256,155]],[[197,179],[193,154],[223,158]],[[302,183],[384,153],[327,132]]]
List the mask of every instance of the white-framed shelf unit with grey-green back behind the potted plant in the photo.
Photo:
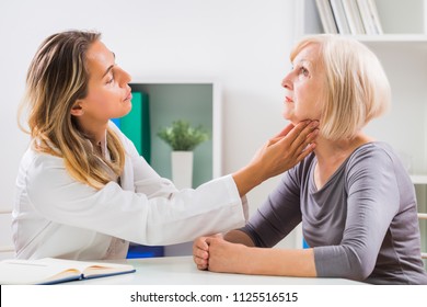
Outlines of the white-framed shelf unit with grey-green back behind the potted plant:
[[[173,121],[185,120],[192,125],[201,125],[210,138],[194,150],[193,187],[222,175],[222,105],[221,89],[212,80],[170,80],[134,78],[129,84],[132,92],[145,92],[149,98],[151,167],[164,178],[172,179],[171,151],[157,133]],[[137,251],[158,252],[155,247],[132,245]],[[163,255],[191,255],[193,242],[163,247]]]

